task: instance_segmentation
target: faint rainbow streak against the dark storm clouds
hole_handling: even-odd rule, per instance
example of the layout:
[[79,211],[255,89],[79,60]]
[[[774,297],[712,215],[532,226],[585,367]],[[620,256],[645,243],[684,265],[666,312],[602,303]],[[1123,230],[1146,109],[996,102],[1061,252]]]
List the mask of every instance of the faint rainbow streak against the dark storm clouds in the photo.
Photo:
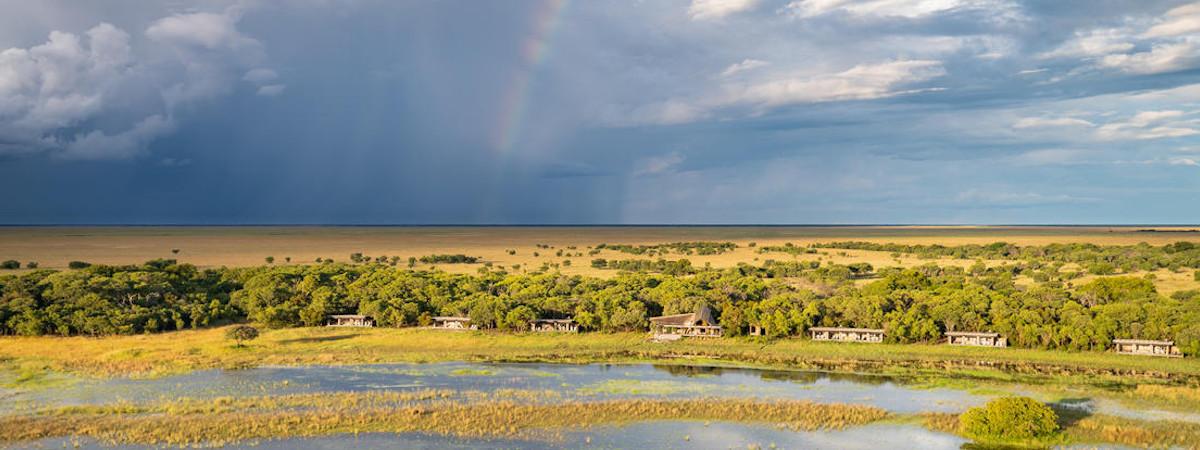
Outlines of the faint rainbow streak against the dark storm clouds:
[[551,40],[569,2],[570,0],[544,0],[535,8],[533,29],[521,46],[522,64],[512,72],[512,80],[500,104],[499,120],[492,137],[492,144],[499,152],[511,150],[524,127],[526,110],[529,107],[529,86],[538,70],[550,58]]

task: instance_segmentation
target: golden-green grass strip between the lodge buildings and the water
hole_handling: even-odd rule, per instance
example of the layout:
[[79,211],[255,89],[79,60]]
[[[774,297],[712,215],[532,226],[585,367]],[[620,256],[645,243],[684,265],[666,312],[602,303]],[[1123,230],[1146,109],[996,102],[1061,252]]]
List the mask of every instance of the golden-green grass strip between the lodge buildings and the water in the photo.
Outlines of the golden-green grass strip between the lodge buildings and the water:
[[[64,352],[70,349],[70,352]],[[684,340],[646,334],[503,334],[427,329],[266,330],[235,347],[224,329],[110,337],[0,337],[0,361],[36,383],[47,372],[152,377],[202,368],[432,361],[680,362],[1084,385],[1200,384],[1200,361],[1112,353],[803,338]],[[13,383],[10,380],[8,383]]]

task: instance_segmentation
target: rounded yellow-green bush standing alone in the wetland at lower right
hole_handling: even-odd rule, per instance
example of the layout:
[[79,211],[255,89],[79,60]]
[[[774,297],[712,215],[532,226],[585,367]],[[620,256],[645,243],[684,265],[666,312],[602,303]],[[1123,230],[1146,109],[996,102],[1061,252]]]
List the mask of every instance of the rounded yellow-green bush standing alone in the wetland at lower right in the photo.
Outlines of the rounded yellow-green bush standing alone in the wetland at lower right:
[[959,427],[976,439],[1032,439],[1054,434],[1058,415],[1030,397],[1003,397],[962,413]]

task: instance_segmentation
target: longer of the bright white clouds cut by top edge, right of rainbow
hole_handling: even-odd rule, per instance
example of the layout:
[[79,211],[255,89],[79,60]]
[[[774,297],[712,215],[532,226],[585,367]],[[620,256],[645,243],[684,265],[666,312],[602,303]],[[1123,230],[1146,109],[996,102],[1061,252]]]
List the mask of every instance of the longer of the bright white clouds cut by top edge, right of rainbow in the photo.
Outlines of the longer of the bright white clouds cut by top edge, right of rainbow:
[[996,7],[991,0],[794,0],[782,12],[808,18],[835,11],[853,16],[918,18],[960,7]]

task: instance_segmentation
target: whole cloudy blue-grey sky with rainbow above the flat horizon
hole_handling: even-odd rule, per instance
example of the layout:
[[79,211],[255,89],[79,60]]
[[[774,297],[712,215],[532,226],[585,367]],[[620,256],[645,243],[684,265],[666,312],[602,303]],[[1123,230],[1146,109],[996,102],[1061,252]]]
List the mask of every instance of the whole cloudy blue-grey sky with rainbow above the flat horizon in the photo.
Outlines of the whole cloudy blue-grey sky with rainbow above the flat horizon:
[[1200,223],[1200,2],[0,12],[0,224]]

